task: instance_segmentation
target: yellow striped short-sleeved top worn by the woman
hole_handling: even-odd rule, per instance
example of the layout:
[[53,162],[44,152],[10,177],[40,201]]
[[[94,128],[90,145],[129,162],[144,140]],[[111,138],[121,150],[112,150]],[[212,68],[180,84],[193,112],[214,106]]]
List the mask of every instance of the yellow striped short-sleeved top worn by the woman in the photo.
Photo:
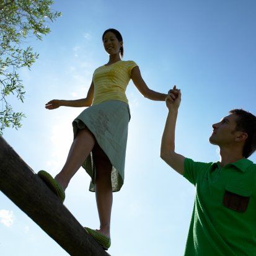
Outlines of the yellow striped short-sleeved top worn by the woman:
[[92,105],[106,100],[121,100],[128,104],[125,90],[131,79],[131,70],[135,66],[138,65],[134,61],[120,60],[95,69],[93,75],[94,101]]

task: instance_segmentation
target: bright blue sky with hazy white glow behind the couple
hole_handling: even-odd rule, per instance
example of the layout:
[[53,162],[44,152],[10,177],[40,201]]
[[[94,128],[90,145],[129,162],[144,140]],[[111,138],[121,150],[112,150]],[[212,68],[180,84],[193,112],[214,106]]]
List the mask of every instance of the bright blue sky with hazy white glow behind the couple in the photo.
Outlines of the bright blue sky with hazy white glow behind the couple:
[[[35,172],[56,175],[73,140],[72,121],[82,108],[44,108],[51,99],[86,96],[95,68],[107,63],[102,33],[123,35],[123,60],[138,63],[148,86],[182,90],[176,151],[196,161],[218,161],[208,142],[211,125],[232,108],[256,114],[256,2],[238,1],[55,1],[63,16],[49,24],[43,41],[27,39],[40,53],[31,71],[20,70],[27,91],[24,104],[10,98],[27,118],[4,138]],[[167,108],[126,91],[131,121],[125,184],[114,194],[111,255],[183,255],[195,188],[159,157]],[[255,154],[250,160],[256,162]],[[64,205],[84,226],[99,227],[89,177],[79,169]],[[2,255],[68,255],[0,194]],[[15,244],[15,246],[14,246]]]

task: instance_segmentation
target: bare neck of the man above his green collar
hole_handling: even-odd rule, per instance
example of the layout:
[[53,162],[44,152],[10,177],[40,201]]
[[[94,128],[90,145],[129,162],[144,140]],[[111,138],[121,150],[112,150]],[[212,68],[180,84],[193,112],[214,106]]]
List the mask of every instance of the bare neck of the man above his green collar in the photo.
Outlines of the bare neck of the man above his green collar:
[[244,158],[241,149],[236,148],[220,148],[219,154],[219,164],[221,167]]

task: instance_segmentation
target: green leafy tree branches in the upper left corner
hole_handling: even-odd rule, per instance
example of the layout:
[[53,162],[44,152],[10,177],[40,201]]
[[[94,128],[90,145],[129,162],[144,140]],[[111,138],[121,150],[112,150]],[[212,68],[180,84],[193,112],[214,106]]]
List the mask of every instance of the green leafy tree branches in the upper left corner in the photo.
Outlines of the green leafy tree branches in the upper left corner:
[[23,102],[24,84],[18,69],[29,68],[38,58],[31,46],[25,46],[25,38],[36,37],[50,32],[48,23],[61,13],[50,9],[51,0],[0,0],[0,135],[4,128],[20,128],[22,112],[14,112],[7,96],[12,94]]

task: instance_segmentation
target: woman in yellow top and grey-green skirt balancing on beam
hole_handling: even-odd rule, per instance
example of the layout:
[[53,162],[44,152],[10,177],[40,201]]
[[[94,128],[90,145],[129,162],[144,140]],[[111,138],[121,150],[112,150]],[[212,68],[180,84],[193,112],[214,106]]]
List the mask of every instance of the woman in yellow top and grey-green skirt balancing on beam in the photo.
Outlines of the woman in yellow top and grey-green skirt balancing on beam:
[[151,100],[165,101],[167,94],[148,88],[134,61],[123,61],[123,38],[115,29],[102,35],[108,63],[94,71],[85,99],[51,100],[46,108],[88,107],[74,121],[74,141],[61,172],[55,179],[41,170],[38,175],[64,201],[64,190],[82,166],[91,177],[89,190],[95,192],[100,229],[87,232],[105,250],[110,247],[112,192],[123,185],[130,110],[125,90],[132,79],[139,92]]

